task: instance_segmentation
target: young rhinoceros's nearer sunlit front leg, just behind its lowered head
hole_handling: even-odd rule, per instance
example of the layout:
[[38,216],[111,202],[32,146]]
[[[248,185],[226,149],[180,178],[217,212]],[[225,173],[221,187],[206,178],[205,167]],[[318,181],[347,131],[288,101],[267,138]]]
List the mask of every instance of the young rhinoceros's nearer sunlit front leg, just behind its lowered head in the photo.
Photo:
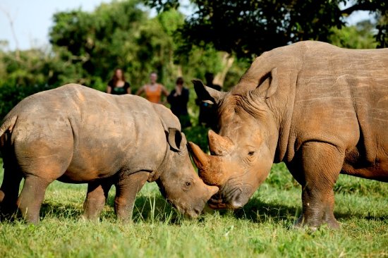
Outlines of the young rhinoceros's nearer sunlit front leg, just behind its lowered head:
[[121,221],[132,219],[133,205],[136,194],[143,188],[143,185],[150,176],[149,172],[137,172],[129,176],[120,178],[116,184],[116,198],[114,199],[114,209],[117,217]]

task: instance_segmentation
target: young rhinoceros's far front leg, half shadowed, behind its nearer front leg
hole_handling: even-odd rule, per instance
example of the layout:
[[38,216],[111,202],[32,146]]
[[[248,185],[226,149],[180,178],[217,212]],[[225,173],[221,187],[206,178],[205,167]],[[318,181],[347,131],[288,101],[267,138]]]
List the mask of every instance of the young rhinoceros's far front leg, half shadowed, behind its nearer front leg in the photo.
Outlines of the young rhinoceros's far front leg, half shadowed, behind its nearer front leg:
[[111,182],[93,182],[87,185],[87,195],[83,203],[83,217],[90,220],[99,218],[111,185]]

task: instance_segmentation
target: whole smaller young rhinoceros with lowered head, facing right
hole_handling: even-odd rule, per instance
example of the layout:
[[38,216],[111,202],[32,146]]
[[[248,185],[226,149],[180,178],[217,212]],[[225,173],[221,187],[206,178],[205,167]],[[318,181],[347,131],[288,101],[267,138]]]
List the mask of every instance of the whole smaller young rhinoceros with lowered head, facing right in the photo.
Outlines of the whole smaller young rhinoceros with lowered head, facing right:
[[218,190],[195,173],[178,118],[133,95],[74,84],[40,92],[8,113],[0,136],[1,211],[14,212],[17,206],[32,223],[39,221],[44,192],[54,180],[89,183],[88,219],[99,216],[111,184],[116,214],[124,220],[147,180],[156,181],[164,197],[189,216],[198,215]]

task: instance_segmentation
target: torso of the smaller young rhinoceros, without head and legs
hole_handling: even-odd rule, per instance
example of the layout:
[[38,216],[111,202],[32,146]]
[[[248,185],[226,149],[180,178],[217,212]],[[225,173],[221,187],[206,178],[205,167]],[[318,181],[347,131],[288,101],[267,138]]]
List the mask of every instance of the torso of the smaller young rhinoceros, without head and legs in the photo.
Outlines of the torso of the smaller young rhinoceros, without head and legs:
[[11,140],[22,170],[63,181],[152,171],[166,151],[157,113],[136,96],[65,85],[24,99],[9,116],[18,116]]

